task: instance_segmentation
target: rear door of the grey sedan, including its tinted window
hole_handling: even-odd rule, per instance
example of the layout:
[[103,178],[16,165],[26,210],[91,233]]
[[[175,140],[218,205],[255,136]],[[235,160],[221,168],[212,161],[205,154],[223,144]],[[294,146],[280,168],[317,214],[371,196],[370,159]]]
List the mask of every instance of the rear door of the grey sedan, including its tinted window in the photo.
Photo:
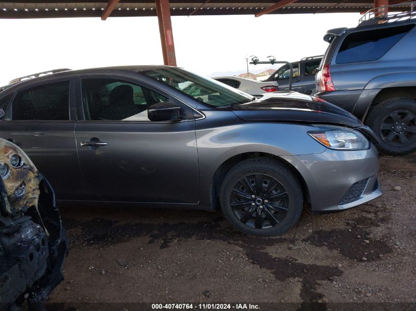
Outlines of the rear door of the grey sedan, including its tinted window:
[[0,121],[1,138],[19,145],[49,180],[57,199],[82,196],[75,143],[74,80],[18,90]]

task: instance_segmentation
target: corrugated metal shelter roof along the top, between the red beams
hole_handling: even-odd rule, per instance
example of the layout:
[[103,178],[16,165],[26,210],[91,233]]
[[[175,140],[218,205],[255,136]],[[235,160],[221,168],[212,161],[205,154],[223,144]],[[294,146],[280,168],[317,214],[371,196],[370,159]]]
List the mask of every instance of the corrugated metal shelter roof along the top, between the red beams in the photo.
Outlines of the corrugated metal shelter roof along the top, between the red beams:
[[[193,15],[254,15],[273,5],[276,1],[234,1],[219,0],[181,1],[170,0],[172,16],[187,16],[195,9]],[[54,18],[54,17],[100,17],[107,1],[0,1],[0,18]],[[374,7],[373,1],[368,0],[298,0],[269,14],[293,13],[333,13],[333,12],[363,12]],[[407,10],[410,4],[397,6],[394,10]],[[117,4],[110,17],[126,16],[156,16],[155,2],[140,0],[122,0]]]

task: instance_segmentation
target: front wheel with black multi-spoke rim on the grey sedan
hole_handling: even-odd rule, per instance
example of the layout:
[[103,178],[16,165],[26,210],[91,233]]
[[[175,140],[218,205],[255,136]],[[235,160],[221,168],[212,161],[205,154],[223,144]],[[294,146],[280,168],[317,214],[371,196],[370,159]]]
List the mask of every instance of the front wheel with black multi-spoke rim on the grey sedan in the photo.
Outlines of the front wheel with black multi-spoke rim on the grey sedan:
[[279,161],[251,158],[226,174],[220,203],[225,217],[241,232],[275,236],[288,231],[299,220],[302,187],[295,174]]

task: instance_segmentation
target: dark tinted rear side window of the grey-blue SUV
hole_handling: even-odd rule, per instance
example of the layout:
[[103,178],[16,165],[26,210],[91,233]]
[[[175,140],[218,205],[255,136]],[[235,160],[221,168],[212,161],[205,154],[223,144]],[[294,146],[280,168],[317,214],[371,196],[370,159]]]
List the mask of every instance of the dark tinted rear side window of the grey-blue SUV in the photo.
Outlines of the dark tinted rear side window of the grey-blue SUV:
[[376,60],[384,56],[415,25],[353,32],[344,39],[336,63]]

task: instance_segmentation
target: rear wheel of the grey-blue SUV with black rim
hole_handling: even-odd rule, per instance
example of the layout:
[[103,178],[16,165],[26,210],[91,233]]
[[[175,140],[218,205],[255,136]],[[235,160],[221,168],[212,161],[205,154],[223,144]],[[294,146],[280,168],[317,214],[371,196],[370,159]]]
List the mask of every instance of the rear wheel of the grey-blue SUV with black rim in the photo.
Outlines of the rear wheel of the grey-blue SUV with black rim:
[[416,101],[391,98],[374,106],[365,124],[379,138],[378,149],[389,155],[405,155],[416,150]]

